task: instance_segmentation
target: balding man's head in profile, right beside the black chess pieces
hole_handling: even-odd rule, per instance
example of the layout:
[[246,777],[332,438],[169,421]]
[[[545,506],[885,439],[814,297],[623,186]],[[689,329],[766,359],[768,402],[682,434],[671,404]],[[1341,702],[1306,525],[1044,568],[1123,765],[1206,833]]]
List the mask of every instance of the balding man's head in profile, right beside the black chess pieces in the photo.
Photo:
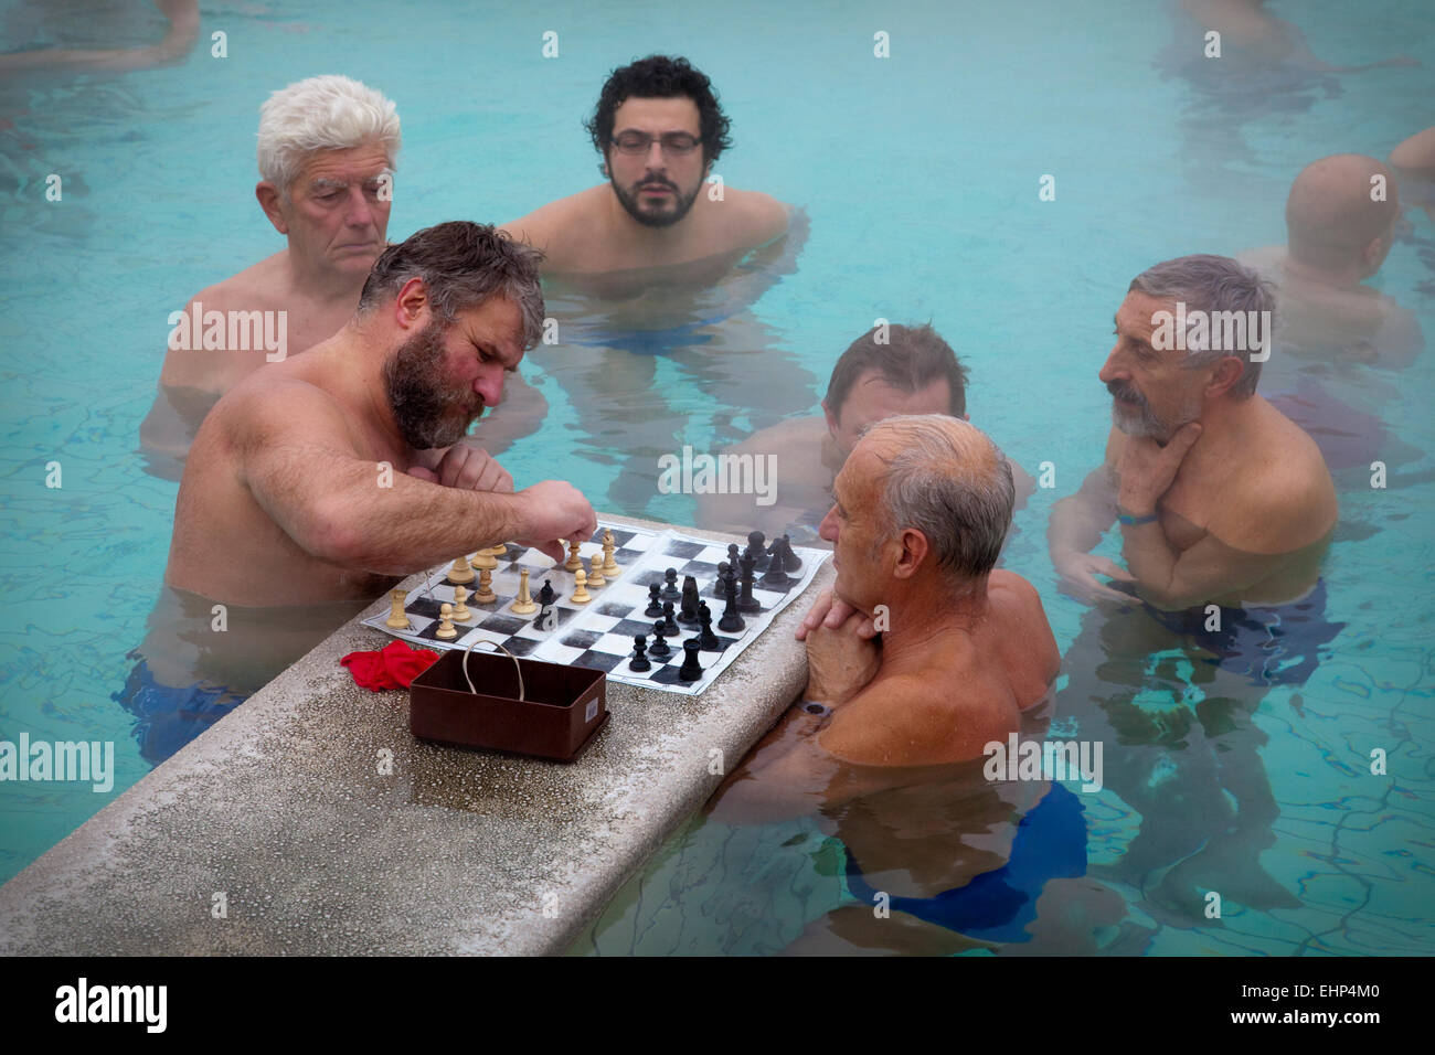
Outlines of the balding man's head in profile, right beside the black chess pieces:
[[870,613],[976,589],[1002,553],[1015,494],[1012,466],[976,426],[934,413],[878,422],[837,475],[822,521],[837,596]]

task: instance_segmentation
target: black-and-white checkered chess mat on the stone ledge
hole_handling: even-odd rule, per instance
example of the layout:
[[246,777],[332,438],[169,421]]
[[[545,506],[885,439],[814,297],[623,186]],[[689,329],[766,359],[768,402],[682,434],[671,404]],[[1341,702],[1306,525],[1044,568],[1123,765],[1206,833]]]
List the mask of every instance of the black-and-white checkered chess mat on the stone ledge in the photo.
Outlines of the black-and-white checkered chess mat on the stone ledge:
[[[712,543],[673,530],[650,531],[600,521],[593,538],[580,545],[584,571],[591,568],[593,554],[598,554],[601,560],[604,528],[613,531],[616,545],[613,558],[617,561],[618,570],[613,573],[616,577],[610,576],[606,580],[604,586],[597,589],[588,586],[588,596],[593,600],[587,604],[573,601],[574,573],[565,571],[563,564],[554,564],[552,558],[541,550],[509,543],[507,553],[497,558],[498,567],[491,573],[491,589],[497,600],[488,604],[474,601],[472,593],[478,589],[476,571],[475,580],[466,584],[469,590],[466,604],[472,614],[466,623],[453,623],[458,637],[442,640],[435,636],[439,629],[439,606],[453,601],[453,587],[448,581],[448,564],[429,573],[422,586],[409,591],[403,604],[409,617],[408,630],[395,630],[386,626],[387,606],[379,614],[363,622],[366,626],[426,649],[466,649],[475,640],[489,640],[502,644],[515,656],[527,656],[547,663],[575,663],[603,670],[610,680],[623,685],[696,696],[712,685],[728,665],[768,629],[772,619],[806,589],[822,561],[829,555],[825,550],[794,545],[792,551],[802,558],[802,567],[789,573],[788,586],[765,589],[758,581],[761,573],[755,574],[752,596],[762,604],[762,610],[742,613],[746,626],[739,632],[723,633],[718,627],[718,620],[722,617],[725,600],[713,594],[713,584],[718,580],[718,563],[728,560],[725,543]],[[554,607],[558,623],[552,630],[544,632],[534,627],[537,613],[517,616],[509,610],[518,597],[519,573],[524,568],[528,568],[528,590],[534,603],[538,601],[538,591],[545,580],[552,584],[558,596]],[[677,669],[683,665],[683,642],[697,636],[696,626],[679,624],[680,633],[667,639],[672,655],[666,659],[660,659],[649,650],[647,657],[653,665],[650,670],[629,669],[629,660],[633,659],[633,637],[647,634],[649,644],[653,643],[654,620],[643,613],[649,604],[649,584],[663,586],[667,568],[677,571],[679,589],[682,589],[684,576],[693,576],[697,580],[702,600],[712,609],[712,629],[718,634],[718,646],[697,653],[703,675],[696,682],[682,682],[677,677]],[[682,606],[674,603],[673,607],[676,610]],[[502,655],[489,647],[478,650]]]

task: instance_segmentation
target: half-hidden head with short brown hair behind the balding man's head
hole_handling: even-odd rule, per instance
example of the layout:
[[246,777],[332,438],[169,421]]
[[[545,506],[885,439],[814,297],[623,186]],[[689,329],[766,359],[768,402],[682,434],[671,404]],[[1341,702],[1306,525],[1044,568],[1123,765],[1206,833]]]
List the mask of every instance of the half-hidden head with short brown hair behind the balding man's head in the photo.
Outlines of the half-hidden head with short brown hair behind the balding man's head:
[[[878,344],[877,339],[887,343]],[[872,327],[832,367],[822,411],[845,458],[870,425],[900,413],[967,416],[967,370],[927,326]]]

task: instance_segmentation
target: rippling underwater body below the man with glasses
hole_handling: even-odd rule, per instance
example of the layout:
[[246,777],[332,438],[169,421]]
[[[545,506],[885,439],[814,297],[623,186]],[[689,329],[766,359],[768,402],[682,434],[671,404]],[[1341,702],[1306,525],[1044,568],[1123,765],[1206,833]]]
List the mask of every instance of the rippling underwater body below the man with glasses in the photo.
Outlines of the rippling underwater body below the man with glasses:
[[[598,508],[644,515],[657,495],[657,459],[684,444],[713,452],[806,411],[817,378],[779,347],[781,336],[749,309],[796,270],[808,235],[795,212],[784,238],[732,258],[651,271],[545,278],[560,343],[528,357],[568,393],[577,422],[568,478],[584,487],[583,462],[617,465]],[[677,367],[674,385],[664,375]]]

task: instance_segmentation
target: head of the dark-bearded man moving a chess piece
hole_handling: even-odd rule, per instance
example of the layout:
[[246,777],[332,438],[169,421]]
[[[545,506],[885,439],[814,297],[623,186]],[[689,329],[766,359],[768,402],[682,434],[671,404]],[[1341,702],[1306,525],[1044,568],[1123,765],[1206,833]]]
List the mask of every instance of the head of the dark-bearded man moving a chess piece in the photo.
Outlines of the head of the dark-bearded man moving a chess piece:
[[456,444],[504,398],[504,375],[542,333],[542,254],[485,224],[453,221],[390,245],[369,273],[360,317],[397,329],[383,367],[409,446]]

